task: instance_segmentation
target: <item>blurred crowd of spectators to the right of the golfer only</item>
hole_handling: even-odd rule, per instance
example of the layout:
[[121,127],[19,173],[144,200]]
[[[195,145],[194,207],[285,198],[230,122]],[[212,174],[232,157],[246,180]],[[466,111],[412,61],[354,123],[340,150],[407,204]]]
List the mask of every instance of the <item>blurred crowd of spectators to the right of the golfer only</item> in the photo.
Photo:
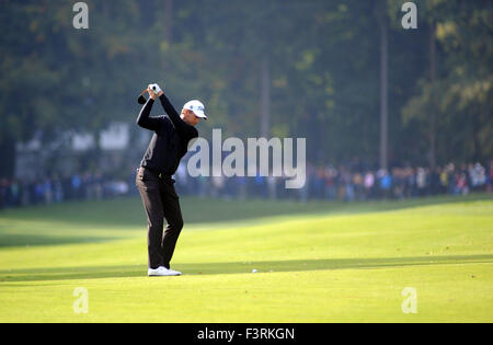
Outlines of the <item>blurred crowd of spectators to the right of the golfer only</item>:
[[[180,173],[182,171],[182,173]],[[291,180],[291,179],[287,179]],[[301,189],[286,189],[284,177],[198,177],[190,179],[182,166],[176,174],[179,189],[203,197],[271,198],[318,200],[403,199],[432,195],[467,195],[491,192],[493,161],[488,168],[480,163],[449,163],[434,170],[422,166],[365,170],[356,166],[307,165],[307,182]]]

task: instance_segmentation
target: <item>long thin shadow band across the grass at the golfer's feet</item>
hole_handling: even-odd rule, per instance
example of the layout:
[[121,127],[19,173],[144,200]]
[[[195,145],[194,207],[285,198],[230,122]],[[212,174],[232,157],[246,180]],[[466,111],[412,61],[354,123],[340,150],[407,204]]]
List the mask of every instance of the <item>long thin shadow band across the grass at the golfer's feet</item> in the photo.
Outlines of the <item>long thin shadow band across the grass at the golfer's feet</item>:
[[[379,258],[331,258],[331,260],[297,260],[265,262],[232,262],[232,263],[176,263],[173,268],[185,275],[225,275],[244,274],[256,269],[259,274],[275,272],[303,272],[331,269],[370,269],[386,267],[406,267],[423,265],[492,263],[493,255],[449,255],[449,256],[412,256],[412,257],[379,257]],[[134,266],[90,266],[90,267],[57,267],[25,268],[0,271],[1,283],[7,281],[48,281],[72,279],[103,279],[145,277],[147,267]]]

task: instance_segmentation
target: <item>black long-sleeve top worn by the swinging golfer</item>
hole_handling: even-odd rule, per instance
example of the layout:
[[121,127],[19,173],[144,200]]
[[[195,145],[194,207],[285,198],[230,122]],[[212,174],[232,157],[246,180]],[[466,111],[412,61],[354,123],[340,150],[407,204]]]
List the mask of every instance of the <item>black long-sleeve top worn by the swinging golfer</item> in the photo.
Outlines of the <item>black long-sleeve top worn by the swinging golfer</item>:
[[190,140],[197,138],[198,131],[180,117],[164,94],[159,100],[168,116],[149,116],[154,104],[154,101],[149,99],[137,118],[137,125],[154,131],[140,166],[171,176],[186,154]]

